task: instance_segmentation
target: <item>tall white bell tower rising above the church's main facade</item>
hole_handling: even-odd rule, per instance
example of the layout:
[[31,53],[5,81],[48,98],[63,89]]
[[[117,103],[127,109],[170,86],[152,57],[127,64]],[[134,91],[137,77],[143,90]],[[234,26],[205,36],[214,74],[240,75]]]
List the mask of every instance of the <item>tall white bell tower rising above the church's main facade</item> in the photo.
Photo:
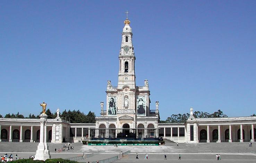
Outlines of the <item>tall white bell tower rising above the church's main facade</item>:
[[119,53],[118,89],[127,85],[135,89],[135,56],[133,47],[133,33],[128,18],[124,21],[125,27],[122,31],[122,43]]

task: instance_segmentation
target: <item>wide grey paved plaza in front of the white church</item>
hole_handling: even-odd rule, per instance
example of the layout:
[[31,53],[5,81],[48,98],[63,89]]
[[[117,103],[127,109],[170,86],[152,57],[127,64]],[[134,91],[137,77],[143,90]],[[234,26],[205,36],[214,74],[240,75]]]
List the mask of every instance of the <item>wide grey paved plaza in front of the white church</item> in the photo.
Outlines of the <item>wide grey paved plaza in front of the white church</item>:
[[[222,162],[256,162],[256,143],[249,147],[248,142],[244,143],[196,143],[186,144],[167,142],[161,146],[88,146],[82,143],[72,143],[74,150],[68,152],[55,153],[54,149],[63,147],[65,143],[48,143],[52,158],[68,158],[83,155],[83,153],[93,153],[105,150],[103,154],[89,157],[86,160],[79,162],[92,162],[97,160],[108,159],[119,155],[120,151],[131,151],[131,154],[118,160],[119,163],[125,162],[213,162],[215,154],[221,154]],[[35,155],[38,143],[20,143],[20,142],[0,142],[0,155],[5,153],[18,154],[18,158],[28,158],[29,155]],[[136,160],[136,153],[139,155],[139,160]],[[144,160],[145,154],[149,155],[149,160]],[[164,160],[164,154],[167,154],[167,159]],[[178,160],[178,155],[181,154],[181,160]]]

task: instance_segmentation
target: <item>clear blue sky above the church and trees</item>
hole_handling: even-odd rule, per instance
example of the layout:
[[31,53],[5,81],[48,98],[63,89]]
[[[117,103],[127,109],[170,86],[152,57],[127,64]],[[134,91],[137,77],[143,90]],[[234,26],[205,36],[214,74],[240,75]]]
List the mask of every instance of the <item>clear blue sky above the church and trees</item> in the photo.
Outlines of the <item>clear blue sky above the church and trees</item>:
[[256,113],[256,1],[0,2],[0,114],[57,108],[100,116],[117,85],[121,32],[133,29],[136,84],[160,117]]

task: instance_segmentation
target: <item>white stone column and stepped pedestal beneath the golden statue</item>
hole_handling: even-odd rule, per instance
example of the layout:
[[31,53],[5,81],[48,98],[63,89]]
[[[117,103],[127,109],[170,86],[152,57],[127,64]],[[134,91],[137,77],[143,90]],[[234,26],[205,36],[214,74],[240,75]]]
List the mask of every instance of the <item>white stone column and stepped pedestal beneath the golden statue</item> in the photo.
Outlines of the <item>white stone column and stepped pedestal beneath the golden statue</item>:
[[47,115],[40,115],[40,143],[37,146],[36,154],[34,160],[43,160],[50,159],[49,146],[46,143],[46,120]]

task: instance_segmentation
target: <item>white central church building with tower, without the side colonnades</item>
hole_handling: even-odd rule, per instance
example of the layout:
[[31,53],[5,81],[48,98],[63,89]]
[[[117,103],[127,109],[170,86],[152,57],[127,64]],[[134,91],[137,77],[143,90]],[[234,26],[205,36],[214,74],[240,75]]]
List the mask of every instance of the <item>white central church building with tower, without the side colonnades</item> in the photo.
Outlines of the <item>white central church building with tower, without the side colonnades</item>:
[[101,102],[101,116],[96,117],[95,138],[158,138],[159,103],[156,103],[156,109],[150,110],[147,79],[144,86],[136,86],[133,33],[128,18],[124,23],[118,56],[118,85],[114,87],[108,80],[106,109],[103,109],[104,103]]

